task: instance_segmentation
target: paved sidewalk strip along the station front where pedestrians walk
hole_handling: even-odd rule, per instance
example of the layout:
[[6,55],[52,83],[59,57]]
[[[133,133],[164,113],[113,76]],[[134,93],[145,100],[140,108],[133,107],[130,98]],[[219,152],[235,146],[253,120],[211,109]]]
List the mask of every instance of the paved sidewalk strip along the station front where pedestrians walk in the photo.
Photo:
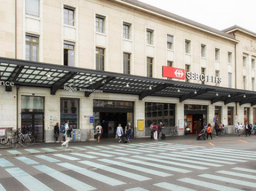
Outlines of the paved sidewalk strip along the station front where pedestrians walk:
[[[207,145],[207,146],[221,146],[227,142],[233,143],[234,147],[240,146],[241,144],[249,143],[244,149],[250,150],[255,148],[256,136],[251,135],[250,137],[245,137],[245,135],[221,135],[215,137],[213,135],[213,140],[196,141],[197,135],[184,135],[184,136],[167,136],[165,140],[159,140],[159,142],[175,143],[175,144],[190,144],[190,145]],[[130,143],[146,143],[153,142],[149,137],[131,139]],[[254,142],[250,144],[250,142]],[[86,142],[70,142],[69,146],[71,149],[64,149],[61,143],[35,143],[32,146],[23,147],[18,145],[17,148],[13,149],[11,147],[0,146],[0,158],[9,158],[14,156],[32,156],[32,155],[47,155],[55,153],[66,153],[66,152],[83,152],[83,151],[97,151],[97,150],[107,150],[107,145],[120,145],[116,139],[102,139],[99,144],[95,141]],[[118,147],[118,146],[117,146]],[[232,148],[232,147],[231,147]]]

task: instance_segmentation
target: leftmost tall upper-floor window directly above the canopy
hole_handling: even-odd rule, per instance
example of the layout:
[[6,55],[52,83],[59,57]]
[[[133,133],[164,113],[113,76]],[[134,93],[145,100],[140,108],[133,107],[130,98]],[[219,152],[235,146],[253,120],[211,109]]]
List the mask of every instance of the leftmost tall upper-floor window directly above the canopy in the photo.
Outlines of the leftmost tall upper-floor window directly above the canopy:
[[39,38],[26,35],[26,60],[39,60]]

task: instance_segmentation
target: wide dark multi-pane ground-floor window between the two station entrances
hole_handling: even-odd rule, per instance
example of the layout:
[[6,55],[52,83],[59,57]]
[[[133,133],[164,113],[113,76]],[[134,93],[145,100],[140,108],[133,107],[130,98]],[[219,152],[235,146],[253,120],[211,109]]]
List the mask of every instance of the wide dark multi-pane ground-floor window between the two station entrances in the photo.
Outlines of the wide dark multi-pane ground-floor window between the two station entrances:
[[145,126],[160,122],[164,126],[175,126],[175,104],[145,102]]

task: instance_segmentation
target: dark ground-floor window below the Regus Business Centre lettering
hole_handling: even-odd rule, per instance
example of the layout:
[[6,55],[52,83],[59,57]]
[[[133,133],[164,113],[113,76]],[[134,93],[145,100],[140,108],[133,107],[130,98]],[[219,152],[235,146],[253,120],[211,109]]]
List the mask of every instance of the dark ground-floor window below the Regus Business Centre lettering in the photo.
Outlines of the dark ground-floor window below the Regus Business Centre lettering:
[[79,129],[79,99],[61,98],[61,125],[65,120],[73,129]]

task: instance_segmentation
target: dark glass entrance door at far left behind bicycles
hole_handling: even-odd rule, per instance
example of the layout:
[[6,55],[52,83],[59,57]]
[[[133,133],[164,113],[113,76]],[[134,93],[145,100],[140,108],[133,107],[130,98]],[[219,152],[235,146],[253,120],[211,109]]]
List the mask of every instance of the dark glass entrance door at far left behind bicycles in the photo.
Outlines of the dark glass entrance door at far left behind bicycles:
[[22,133],[31,133],[36,142],[44,141],[44,113],[22,113]]

